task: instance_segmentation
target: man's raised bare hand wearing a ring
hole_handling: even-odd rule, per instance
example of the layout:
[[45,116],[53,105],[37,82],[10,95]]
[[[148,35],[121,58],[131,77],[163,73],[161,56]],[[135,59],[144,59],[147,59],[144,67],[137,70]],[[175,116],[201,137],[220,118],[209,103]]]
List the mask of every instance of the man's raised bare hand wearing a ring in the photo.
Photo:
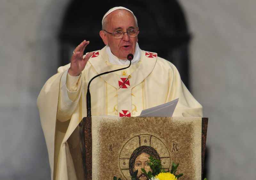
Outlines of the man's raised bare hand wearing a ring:
[[74,54],[72,55],[71,60],[70,60],[71,65],[70,65],[70,68],[68,69],[69,75],[78,76],[84,70],[84,67],[85,67],[87,61],[90,59],[90,57],[93,54],[92,52],[90,52],[90,53],[86,54],[86,56],[83,58],[84,49],[89,43],[90,43],[90,41],[84,40],[74,50]]

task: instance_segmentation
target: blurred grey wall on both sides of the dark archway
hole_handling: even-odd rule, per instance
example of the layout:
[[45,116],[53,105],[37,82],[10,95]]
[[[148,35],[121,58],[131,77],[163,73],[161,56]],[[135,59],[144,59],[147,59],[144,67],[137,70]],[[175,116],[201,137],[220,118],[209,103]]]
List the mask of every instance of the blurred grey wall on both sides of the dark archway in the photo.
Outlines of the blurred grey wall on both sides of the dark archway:
[[[0,2],[0,179],[50,177],[36,98],[56,72],[68,2]],[[209,179],[254,179],[256,1],[180,3],[194,35],[192,92],[210,118]]]

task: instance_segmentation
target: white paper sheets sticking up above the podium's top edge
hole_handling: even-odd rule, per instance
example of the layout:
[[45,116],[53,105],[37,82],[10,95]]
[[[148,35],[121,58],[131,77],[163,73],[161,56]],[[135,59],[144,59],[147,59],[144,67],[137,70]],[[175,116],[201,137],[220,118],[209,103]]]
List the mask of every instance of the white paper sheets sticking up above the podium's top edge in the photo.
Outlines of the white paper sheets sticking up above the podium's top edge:
[[140,117],[172,117],[178,101],[179,98],[168,103],[142,110]]

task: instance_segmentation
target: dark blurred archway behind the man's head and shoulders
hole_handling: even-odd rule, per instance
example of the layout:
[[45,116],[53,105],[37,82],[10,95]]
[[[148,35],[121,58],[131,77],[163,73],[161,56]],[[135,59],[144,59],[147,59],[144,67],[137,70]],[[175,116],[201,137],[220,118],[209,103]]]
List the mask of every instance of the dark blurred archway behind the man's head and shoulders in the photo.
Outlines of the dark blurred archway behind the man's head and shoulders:
[[185,15],[176,0],[131,1],[106,0],[90,2],[73,0],[68,5],[60,28],[60,65],[68,64],[72,51],[84,39],[90,40],[86,52],[104,47],[99,36],[101,19],[112,7],[124,6],[131,9],[138,19],[140,28],[139,45],[147,51],[172,62],[179,70],[184,84],[189,89],[189,53],[191,35]]

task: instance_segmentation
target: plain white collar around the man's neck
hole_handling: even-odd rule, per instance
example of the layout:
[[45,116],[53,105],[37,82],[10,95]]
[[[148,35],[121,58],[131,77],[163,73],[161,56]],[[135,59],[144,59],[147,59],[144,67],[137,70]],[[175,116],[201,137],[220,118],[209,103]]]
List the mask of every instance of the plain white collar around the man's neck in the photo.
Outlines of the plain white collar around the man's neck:
[[[116,65],[126,65],[126,64],[130,63],[127,59],[123,60],[123,59],[119,59],[118,57],[116,57],[111,52],[110,47],[108,45],[107,45],[106,51],[108,54],[109,63],[116,64]],[[135,53],[133,54],[132,64],[140,61],[140,52],[141,52],[141,49],[139,47],[139,44],[136,42],[136,48],[135,48]]]

